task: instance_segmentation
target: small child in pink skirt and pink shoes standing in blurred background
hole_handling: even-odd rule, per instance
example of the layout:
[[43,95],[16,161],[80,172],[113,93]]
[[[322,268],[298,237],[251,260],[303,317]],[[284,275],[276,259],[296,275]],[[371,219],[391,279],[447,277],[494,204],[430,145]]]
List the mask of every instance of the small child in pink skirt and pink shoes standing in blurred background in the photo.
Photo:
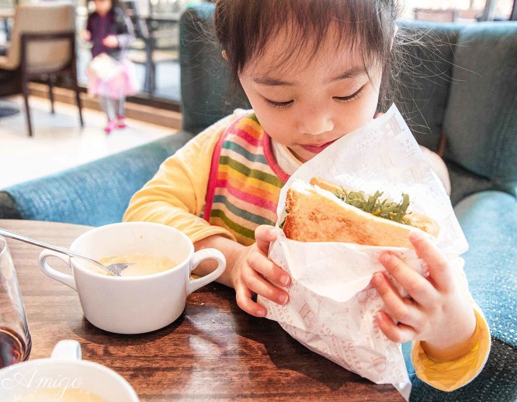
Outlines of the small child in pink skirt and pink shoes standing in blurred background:
[[138,91],[126,52],[134,39],[131,20],[116,7],[116,0],[94,0],[83,39],[92,44],[92,62],[86,71],[88,93],[98,95],[108,116],[105,132],[124,128],[125,99]]

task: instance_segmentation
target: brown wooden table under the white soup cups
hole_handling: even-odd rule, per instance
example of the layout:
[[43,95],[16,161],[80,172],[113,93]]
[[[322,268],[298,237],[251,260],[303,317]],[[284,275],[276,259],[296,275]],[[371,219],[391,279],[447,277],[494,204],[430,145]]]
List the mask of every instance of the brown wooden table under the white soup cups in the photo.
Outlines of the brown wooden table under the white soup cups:
[[[0,220],[0,227],[65,247],[89,229],[16,220]],[[217,283],[190,295],[180,318],[158,331],[102,331],[83,317],[75,291],[39,270],[41,249],[7,242],[32,335],[30,358],[49,357],[61,339],[78,340],[84,359],[117,371],[142,401],[403,400],[391,385],[363,379],[309,351],[278,323],[240,310],[233,289]],[[52,262],[68,270],[57,259]]]

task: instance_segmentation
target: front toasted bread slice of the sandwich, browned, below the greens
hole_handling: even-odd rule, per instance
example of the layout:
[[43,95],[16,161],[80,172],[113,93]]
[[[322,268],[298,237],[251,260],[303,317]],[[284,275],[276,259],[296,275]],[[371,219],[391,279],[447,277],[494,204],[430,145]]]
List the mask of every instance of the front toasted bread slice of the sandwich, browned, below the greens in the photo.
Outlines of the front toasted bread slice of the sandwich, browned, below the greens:
[[[302,180],[296,180],[287,190],[285,209],[289,212],[283,231],[287,238],[298,241],[413,248],[408,236],[412,231],[420,230],[373,216],[342,202],[329,191],[321,189],[319,184],[313,186]],[[411,217],[413,219],[413,214]]]

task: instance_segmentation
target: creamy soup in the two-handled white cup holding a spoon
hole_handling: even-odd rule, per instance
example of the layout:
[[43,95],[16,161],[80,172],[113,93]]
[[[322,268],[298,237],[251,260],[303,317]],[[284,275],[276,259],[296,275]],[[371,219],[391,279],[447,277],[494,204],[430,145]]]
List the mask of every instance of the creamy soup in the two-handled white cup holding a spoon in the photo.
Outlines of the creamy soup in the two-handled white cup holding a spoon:
[[[120,272],[120,276],[143,276],[158,274],[174,268],[177,264],[168,257],[157,257],[154,255],[145,254],[127,254],[116,255],[111,257],[104,257],[99,260],[103,265],[110,265],[116,263],[131,263],[126,269]],[[101,267],[91,264],[88,269],[97,272],[98,274],[110,275]]]

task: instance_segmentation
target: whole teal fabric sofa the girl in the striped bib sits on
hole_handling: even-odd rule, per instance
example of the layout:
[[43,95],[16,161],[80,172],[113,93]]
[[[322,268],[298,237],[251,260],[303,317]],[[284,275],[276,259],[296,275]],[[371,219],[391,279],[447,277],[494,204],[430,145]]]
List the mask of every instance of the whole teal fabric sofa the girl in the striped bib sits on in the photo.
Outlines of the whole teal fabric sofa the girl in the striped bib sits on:
[[[118,222],[166,157],[235,107],[249,107],[242,93],[230,94],[219,51],[199,41],[213,11],[207,3],[181,18],[183,131],[4,189],[0,218]],[[412,400],[517,400],[517,23],[401,25],[432,38],[407,50],[413,69],[401,76],[398,104],[419,143],[437,151],[445,139],[451,201],[470,245],[465,271],[492,332],[488,363],[474,381],[445,393],[412,376]]]

